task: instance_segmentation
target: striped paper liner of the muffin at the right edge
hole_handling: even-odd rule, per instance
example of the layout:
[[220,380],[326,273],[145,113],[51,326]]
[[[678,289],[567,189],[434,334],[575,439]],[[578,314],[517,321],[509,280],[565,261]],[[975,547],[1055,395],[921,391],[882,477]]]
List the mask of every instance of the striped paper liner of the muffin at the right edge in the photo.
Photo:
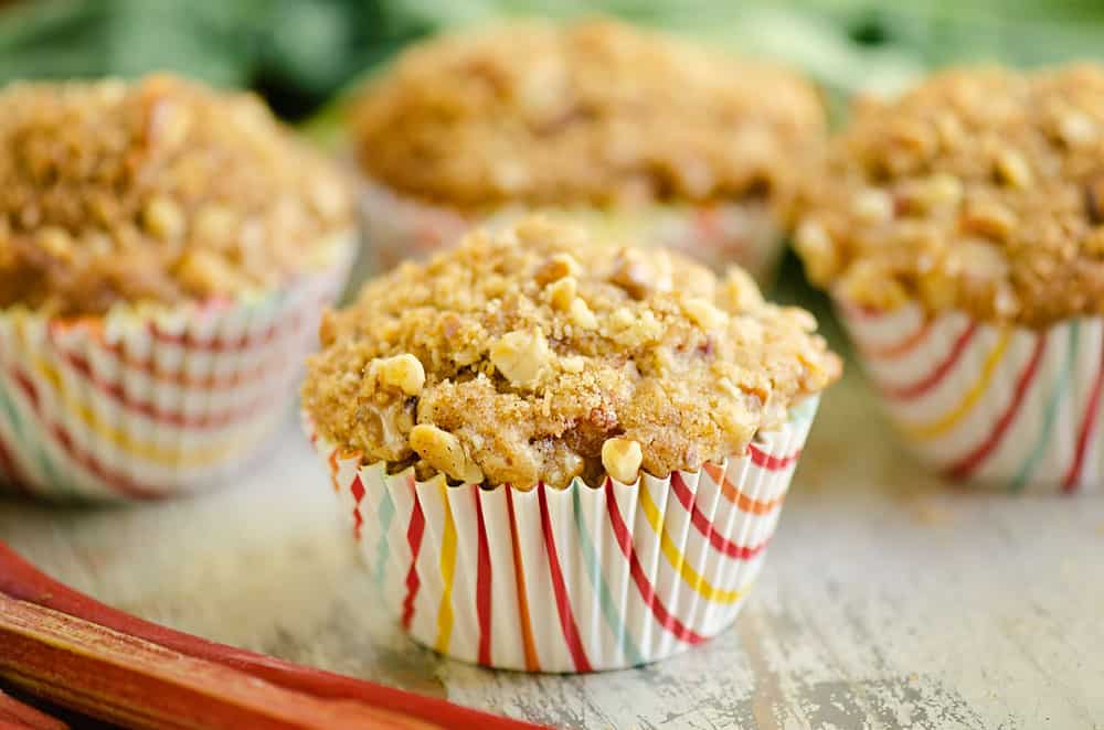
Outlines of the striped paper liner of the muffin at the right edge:
[[1104,475],[1104,318],[1043,330],[917,304],[840,316],[909,447],[951,479],[1008,492],[1089,492]]

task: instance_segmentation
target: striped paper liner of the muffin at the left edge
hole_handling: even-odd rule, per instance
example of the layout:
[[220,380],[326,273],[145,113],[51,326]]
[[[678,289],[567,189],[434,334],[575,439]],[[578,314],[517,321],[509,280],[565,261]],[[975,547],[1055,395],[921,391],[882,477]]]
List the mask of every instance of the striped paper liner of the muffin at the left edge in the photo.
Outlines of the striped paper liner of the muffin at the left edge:
[[286,417],[352,244],[283,289],[61,320],[0,312],[0,489],[148,500],[225,479]]

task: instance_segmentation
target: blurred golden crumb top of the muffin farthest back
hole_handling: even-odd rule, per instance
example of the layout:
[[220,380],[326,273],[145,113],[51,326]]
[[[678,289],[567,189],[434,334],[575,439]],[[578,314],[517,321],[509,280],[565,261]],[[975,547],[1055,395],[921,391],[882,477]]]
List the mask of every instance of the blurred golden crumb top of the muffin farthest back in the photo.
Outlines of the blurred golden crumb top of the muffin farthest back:
[[371,178],[466,210],[778,203],[825,124],[816,90],[787,71],[613,21],[428,41],[352,121]]

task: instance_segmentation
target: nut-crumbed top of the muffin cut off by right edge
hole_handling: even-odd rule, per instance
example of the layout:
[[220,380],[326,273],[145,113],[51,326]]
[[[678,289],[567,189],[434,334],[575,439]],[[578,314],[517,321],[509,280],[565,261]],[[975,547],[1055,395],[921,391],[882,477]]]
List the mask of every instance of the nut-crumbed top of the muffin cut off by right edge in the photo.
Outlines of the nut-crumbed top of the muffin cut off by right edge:
[[1104,69],[956,69],[862,103],[806,195],[809,277],[853,303],[1104,313]]

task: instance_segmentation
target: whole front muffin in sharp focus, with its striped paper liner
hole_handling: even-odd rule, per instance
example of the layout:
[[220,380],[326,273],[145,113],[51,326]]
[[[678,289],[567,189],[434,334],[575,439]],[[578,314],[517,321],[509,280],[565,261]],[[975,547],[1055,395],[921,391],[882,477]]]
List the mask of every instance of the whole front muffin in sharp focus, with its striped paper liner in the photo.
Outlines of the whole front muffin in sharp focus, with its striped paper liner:
[[631,666],[740,610],[839,375],[815,329],[742,269],[527,217],[328,313],[305,419],[416,641]]

